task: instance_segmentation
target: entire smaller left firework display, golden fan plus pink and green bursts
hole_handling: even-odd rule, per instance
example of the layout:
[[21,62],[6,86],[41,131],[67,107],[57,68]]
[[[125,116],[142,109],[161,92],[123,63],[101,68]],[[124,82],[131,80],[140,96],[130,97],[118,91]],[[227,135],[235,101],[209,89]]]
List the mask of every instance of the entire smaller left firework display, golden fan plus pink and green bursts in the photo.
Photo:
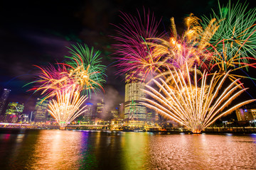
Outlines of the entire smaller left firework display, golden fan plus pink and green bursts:
[[[85,112],[85,106],[80,108],[87,98],[80,94],[91,96],[92,91],[103,90],[105,83],[105,66],[100,64],[100,52],[93,52],[87,45],[78,47],[72,45],[71,57],[65,56],[66,63],[57,63],[40,69],[38,79],[31,82],[36,84],[31,90],[42,91],[44,99],[52,98],[49,103],[49,113],[65,128],[68,123]],[[56,100],[54,99],[56,97]]]

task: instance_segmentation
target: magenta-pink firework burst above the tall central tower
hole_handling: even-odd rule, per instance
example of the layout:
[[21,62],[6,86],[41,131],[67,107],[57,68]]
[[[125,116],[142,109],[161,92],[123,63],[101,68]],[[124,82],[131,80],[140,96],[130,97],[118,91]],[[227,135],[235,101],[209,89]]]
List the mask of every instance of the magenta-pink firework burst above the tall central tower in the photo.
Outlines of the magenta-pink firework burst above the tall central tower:
[[116,50],[114,54],[120,56],[117,58],[117,73],[134,72],[137,75],[143,72],[146,79],[154,72],[160,72],[159,67],[164,61],[160,61],[160,57],[152,57],[151,49],[145,43],[147,38],[154,38],[157,34],[159,22],[155,20],[154,14],[144,11],[144,18],[127,13],[122,13],[121,17],[124,23],[116,26],[118,36],[113,37],[118,42],[113,45]]

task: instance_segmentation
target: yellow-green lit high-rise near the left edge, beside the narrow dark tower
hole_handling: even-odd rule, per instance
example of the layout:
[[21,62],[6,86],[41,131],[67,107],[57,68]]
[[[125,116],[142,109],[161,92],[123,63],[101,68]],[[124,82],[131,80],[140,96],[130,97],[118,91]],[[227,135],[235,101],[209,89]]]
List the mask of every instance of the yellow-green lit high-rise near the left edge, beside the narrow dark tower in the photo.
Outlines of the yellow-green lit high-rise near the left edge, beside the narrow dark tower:
[[23,110],[24,110],[23,103],[18,103],[18,102],[8,103],[6,113],[5,113],[5,121],[8,123],[16,123],[18,118],[22,115]]

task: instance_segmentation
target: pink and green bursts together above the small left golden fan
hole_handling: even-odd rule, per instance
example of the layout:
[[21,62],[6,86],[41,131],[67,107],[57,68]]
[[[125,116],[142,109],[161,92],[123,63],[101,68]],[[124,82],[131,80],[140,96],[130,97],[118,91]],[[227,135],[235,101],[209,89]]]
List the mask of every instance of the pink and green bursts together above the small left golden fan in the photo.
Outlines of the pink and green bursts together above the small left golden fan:
[[[75,84],[79,91],[90,96],[93,92],[103,90],[105,83],[105,66],[100,64],[100,52],[93,52],[87,45],[70,49],[72,57],[66,63],[57,63],[56,67],[49,65],[46,68],[38,67],[41,72],[38,79],[30,84],[36,84],[30,91],[42,91],[44,99],[53,98],[58,90],[67,89]],[[104,91],[104,90],[103,90]]]

